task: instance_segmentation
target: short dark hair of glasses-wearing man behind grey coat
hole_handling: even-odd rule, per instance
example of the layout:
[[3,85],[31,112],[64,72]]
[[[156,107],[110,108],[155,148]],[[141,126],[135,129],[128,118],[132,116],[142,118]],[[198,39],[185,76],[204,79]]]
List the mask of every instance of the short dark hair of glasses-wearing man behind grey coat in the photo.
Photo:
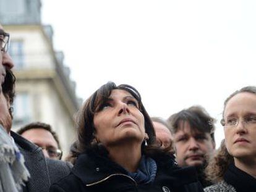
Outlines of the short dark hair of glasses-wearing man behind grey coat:
[[51,133],[51,135],[53,135],[54,140],[57,142],[58,148],[61,149],[61,146],[59,144],[59,138],[58,138],[56,132],[53,131],[53,129],[51,128],[51,125],[49,125],[49,124],[41,123],[41,122],[29,123],[28,125],[25,125],[24,127],[20,128],[17,131],[17,133],[22,135],[22,133],[24,133],[25,131],[35,129],[35,128],[43,128],[44,130],[49,131]]

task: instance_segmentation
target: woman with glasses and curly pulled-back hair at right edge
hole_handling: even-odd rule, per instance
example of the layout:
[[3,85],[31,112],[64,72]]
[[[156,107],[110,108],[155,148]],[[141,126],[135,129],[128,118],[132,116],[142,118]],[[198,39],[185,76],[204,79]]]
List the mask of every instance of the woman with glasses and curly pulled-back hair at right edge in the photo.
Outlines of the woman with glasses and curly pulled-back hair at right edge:
[[256,191],[256,87],[226,99],[221,124],[225,140],[206,170],[218,183],[205,191]]

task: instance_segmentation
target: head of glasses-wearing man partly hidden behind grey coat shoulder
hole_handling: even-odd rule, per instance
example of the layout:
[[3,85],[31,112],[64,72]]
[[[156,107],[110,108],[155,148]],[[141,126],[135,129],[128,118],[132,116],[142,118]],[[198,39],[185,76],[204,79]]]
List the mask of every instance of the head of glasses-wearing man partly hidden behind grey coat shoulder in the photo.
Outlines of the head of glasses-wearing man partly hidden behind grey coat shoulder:
[[61,159],[62,151],[59,138],[56,132],[52,130],[51,125],[33,122],[20,128],[17,133],[43,149],[45,157]]

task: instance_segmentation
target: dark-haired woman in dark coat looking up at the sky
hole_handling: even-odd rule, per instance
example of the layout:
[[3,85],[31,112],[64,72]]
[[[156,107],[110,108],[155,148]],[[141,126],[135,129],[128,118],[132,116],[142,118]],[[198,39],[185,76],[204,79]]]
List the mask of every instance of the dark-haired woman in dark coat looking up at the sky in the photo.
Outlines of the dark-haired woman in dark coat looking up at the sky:
[[[50,191],[203,191],[194,168],[177,167],[155,131],[140,94],[106,83],[80,109],[72,172]],[[171,146],[170,146],[171,147]]]

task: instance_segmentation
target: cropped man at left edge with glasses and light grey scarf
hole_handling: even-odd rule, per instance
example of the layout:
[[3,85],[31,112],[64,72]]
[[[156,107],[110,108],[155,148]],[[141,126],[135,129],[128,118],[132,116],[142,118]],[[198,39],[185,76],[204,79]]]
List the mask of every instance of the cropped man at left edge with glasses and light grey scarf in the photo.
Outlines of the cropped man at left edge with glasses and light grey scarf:
[[2,30],[0,25],[0,191],[18,192],[22,190],[30,174],[25,167],[23,155],[8,132],[11,129],[10,106],[4,102],[9,94],[12,94],[7,89],[8,80],[12,75],[10,72],[12,62],[6,62],[9,56],[8,44],[9,34]]

